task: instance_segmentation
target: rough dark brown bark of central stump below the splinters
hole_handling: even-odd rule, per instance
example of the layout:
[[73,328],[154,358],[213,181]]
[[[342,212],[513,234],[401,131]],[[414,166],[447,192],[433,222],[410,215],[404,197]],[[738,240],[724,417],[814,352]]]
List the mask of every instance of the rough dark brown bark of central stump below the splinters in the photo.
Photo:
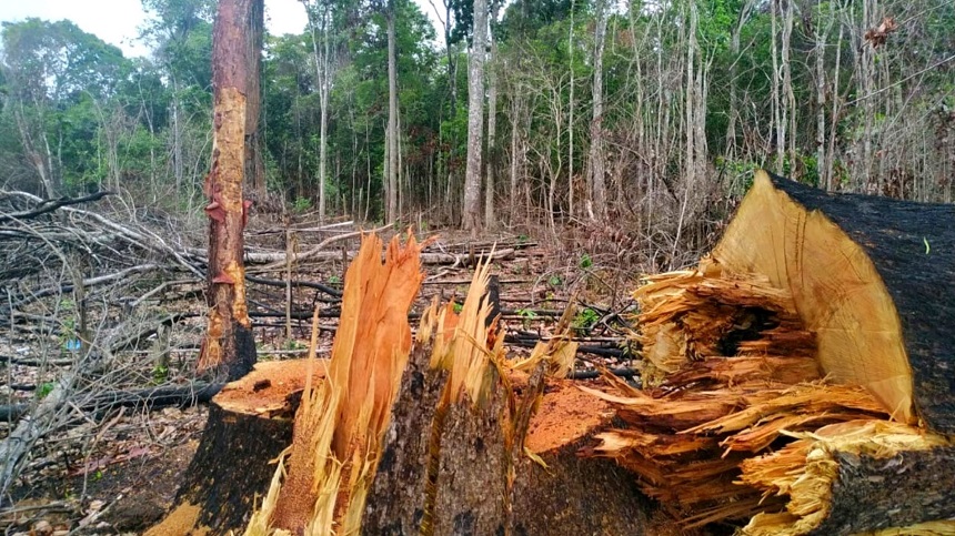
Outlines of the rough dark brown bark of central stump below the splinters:
[[[445,374],[428,368],[429,355],[430,348],[416,347],[402,378],[363,534],[421,534],[426,510],[438,535],[665,532],[646,528],[654,508],[636,489],[634,476],[613,462],[577,457],[583,442],[542,453],[547,468],[509,452],[502,426],[511,424],[501,418],[506,411],[501,390],[483,409],[465,401],[435,416]],[[512,459],[515,479],[509,491]],[[436,469],[432,499],[426,497],[429,466]]]

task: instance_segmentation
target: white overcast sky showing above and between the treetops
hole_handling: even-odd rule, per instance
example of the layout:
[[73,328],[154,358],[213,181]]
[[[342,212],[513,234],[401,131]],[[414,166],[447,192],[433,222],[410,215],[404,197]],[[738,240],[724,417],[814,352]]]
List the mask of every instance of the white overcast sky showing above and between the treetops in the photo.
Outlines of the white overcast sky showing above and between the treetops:
[[[428,0],[414,1],[438,27]],[[140,0],[0,0],[0,22],[29,17],[69,19],[83,31],[121,48],[128,58],[149,53],[148,47],[137,40],[138,28],[145,19]],[[305,9],[299,0],[265,0],[265,27],[275,36],[301,32],[305,28]],[[440,30],[438,36],[441,40]]]

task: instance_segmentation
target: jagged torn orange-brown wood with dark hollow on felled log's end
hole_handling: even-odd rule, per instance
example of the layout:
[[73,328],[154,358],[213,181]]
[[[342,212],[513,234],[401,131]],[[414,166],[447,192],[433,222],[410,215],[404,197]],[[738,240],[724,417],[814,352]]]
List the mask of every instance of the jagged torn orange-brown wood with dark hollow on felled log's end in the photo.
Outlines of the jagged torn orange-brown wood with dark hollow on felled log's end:
[[635,297],[644,388],[612,376],[611,390],[581,387],[630,425],[597,435],[591,454],[635,472],[688,526],[784,512],[786,492],[747,479],[747,461],[795,433],[888,417],[864,388],[821,377],[792,296],[763,277],[705,259],[650,277]]

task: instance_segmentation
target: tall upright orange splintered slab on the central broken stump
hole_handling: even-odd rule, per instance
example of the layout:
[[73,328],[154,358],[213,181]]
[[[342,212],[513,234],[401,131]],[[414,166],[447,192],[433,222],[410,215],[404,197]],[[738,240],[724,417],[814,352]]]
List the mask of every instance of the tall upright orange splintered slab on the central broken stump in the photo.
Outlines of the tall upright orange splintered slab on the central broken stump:
[[[313,382],[306,374],[288,474],[280,463],[247,535],[358,530],[411,351],[408,310],[421,284],[420,250],[410,233],[404,246],[395,236],[382,263],[381,240],[363,237],[345,274],[326,381]],[[316,322],[312,331],[309,363],[323,366],[314,358]],[[272,527],[281,529],[273,533]]]

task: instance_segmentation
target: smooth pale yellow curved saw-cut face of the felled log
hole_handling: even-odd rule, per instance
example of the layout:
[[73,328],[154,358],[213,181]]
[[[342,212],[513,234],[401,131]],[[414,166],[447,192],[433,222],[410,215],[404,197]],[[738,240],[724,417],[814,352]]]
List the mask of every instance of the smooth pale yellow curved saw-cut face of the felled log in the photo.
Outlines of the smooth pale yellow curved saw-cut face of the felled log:
[[790,290],[833,381],[864,386],[896,419],[915,418],[892,297],[865,251],[828,218],[807,212],[757,171],[712,255],[731,271],[763,274]]

